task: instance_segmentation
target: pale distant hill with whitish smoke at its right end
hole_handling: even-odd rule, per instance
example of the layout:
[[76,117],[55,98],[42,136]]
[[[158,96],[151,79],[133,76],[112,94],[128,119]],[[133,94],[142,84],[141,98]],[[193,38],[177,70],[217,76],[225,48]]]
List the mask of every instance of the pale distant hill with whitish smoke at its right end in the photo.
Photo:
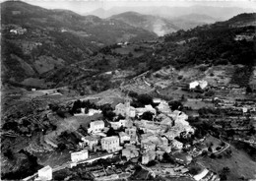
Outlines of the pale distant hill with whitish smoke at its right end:
[[166,33],[179,30],[178,27],[174,26],[167,19],[153,15],[142,15],[136,12],[126,12],[113,15],[109,19],[119,20],[136,28],[151,30],[158,35],[164,35]]

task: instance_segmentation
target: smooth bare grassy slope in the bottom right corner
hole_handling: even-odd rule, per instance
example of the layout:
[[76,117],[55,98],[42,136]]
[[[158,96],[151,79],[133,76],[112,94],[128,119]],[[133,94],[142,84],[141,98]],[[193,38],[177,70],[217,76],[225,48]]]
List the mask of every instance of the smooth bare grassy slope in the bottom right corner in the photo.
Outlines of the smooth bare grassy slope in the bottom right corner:
[[238,151],[233,147],[231,147],[231,151],[231,157],[215,159],[203,157],[198,162],[217,173],[227,166],[230,169],[230,173],[227,175],[229,181],[239,180],[242,177],[256,179],[256,162],[244,151]]

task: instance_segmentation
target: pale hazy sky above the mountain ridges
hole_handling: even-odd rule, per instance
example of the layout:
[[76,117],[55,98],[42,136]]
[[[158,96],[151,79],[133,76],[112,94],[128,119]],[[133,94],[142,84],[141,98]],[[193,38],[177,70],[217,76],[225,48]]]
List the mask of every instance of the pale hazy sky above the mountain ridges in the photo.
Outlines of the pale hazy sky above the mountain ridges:
[[77,13],[92,12],[98,8],[105,10],[112,7],[147,7],[147,6],[218,6],[256,9],[253,0],[23,0],[47,9],[68,9]]

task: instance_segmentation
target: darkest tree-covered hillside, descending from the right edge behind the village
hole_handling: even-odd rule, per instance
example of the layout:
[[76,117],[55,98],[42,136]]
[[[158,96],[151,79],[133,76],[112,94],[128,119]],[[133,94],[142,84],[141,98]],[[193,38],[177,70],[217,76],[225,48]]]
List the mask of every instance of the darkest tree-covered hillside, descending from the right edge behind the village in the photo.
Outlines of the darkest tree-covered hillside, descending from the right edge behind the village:
[[[239,20],[244,15],[238,15]],[[254,17],[255,14],[248,14]],[[240,17],[240,18],[239,18]],[[232,23],[231,23],[232,22]],[[254,19],[251,18],[253,23]],[[242,64],[255,65],[255,27],[233,27],[237,22],[232,19],[213,25],[205,25],[192,30],[178,30],[152,42],[139,43],[140,47],[152,47],[152,51],[141,57],[130,57],[129,61],[120,61],[120,69],[136,69],[143,72],[159,70],[163,66],[177,69],[205,64],[207,66]],[[246,34],[248,40],[235,40],[240,34]],[[253,39],[254,37],[254,39]],[[141,65],[140,67],[136,65]],[[246,69],[250,71],[250,69]],[[250,73],[248,73],[249,75]]]

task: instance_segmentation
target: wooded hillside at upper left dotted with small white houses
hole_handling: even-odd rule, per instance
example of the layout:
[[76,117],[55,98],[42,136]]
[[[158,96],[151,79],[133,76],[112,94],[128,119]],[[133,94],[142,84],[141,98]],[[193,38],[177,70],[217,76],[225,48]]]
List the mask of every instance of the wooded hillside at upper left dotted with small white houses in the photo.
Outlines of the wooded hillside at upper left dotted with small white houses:
[[47,10],[21,1],[1,4],[1,22],[4,82],[40,78],[48,71],[86,60],[108,44],[157,37],[117,20]]

